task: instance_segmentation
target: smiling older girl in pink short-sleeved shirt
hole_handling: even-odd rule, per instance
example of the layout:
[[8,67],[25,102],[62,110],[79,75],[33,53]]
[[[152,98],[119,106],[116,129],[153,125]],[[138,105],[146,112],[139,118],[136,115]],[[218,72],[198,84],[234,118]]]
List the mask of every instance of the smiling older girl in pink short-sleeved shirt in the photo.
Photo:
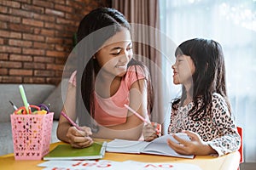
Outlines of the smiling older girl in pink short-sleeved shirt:
[[132,59],[130,25],[113,8],[97,8],[85,15],[78,30],[78,69],[70,78],[57,136],[73,147],[92,144],[94,138],[139,139],[143,122],[128,111],[130,105],[148,118],[152,88],[148,69]]

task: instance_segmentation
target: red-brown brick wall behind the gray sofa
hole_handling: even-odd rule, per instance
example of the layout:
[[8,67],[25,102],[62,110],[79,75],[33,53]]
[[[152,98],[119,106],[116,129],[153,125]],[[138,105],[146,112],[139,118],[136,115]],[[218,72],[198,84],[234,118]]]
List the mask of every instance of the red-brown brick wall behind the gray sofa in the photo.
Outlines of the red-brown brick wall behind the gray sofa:
[[110,0],[0,0],[0,83],[61,81],[84,14]]

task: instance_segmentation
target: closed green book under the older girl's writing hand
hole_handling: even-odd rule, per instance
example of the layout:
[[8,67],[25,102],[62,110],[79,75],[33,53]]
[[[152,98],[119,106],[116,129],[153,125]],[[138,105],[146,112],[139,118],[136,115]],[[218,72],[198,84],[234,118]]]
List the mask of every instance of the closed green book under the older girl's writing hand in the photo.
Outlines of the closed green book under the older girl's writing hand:
[[49,154],[44,156],[44,160],[90,160],[101,159],[105,155],[107,142],[93,143],[86,148],[73,148],[70,144],[59,144]]

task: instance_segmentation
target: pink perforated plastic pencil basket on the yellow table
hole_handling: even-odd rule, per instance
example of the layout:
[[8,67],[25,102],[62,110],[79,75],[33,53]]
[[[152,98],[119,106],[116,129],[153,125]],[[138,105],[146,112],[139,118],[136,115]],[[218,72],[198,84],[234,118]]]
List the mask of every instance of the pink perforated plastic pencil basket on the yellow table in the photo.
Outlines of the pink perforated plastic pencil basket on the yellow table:
[[41,160],[49,153],[53,115],[10,116],[15,160]]

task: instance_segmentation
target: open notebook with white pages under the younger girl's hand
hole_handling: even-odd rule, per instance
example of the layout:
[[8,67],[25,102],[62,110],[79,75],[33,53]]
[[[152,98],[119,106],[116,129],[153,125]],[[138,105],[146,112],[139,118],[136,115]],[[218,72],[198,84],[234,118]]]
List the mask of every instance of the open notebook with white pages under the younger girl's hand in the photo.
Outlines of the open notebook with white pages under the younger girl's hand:
[[[185,133],[176,133],[176,135],[182,139],[190,140],[188,135]],[[167,139],[172,139],[173,141],[177,142],[176,139],[173,139],[171,134],[161,136],[160,138],[154,139],[151,142],[114,139],[113,141],[108,142],[106,151],[117,153],[143,153],[160,156],[194,158],[194,155],[184,156],[172,150],[172,148],[167,144]]]

